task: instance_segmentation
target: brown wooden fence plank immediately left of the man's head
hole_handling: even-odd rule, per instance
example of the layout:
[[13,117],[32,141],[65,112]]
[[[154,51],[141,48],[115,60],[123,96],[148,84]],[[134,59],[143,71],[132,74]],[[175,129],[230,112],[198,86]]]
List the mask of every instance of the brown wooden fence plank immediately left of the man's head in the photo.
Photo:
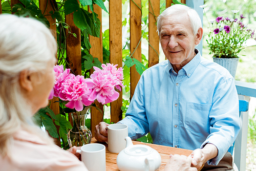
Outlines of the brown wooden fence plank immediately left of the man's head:
[[148,2],[148,67],[159,62],[159,35],[157,33],[157,17],[160,14],[160,1]]

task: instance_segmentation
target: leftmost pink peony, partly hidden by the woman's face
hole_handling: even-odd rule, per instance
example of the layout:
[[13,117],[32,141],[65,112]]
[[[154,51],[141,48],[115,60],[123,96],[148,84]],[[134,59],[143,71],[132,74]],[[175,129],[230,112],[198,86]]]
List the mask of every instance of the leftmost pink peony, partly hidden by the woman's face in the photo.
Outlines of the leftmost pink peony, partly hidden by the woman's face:
[[70,69],[66,69],[63,71],[63,66],[56,65],[53,68],[55,72],[55,82],[54,82],[54,96],[58,97],[59,91],[61,89],[61,83],[65,80],[65,78],[69,75]]

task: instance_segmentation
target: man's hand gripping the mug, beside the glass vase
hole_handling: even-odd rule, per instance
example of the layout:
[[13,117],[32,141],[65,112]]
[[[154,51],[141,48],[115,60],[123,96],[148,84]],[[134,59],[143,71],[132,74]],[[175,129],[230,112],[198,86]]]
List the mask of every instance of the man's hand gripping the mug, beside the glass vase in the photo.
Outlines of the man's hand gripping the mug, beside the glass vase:
[[108,127],[106,126],[109,126],[109,124],[105,122],[100,122],[95,126],[94,135],[99,142],[108,141]]

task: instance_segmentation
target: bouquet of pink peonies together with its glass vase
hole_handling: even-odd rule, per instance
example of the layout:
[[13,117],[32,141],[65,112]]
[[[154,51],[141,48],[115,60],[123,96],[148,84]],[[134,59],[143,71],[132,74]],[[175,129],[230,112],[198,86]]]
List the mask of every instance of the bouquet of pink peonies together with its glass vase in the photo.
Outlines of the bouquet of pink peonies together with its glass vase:
[[55,85],[51,97],[58,97],[67,107],[67,113],[71,113],[73,128],[68,132],[70,147],[91,143],[92,134],[85,124],[90,108],[97,108],[96,100],[101,104],[115,101],[119,97],[118,91],[124,87],[122,68],[117,69],[117,65],[110,63],[102,64],[101,68],[94,67],[90,78],[84,78],[70,73],[70,69],[63,70],[62,65],[54,67]]

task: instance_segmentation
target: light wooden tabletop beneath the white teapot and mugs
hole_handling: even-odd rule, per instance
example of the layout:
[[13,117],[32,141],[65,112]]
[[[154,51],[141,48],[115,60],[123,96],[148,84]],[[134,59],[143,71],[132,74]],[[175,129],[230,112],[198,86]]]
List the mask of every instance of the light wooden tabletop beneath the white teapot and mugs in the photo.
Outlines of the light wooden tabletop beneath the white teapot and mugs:
[[[95,138],[92,138],[92,143],[98,143],[98,141]],[[116,158],[118,153],[111,153],[108,149],[108,144],[103,143],[106,146],[106,171],[118,171],[118,167],[116,164]],[[143,143],[138,141],[133,141],[133,144],[143,144],[148,145],[154,149],[160,154],[162,158],[161,166],[159,167],[159,171],[163,170],[165,167],[165,164],[169,161],[169,155],[170,154],[178,154],[178,155],[185,155],[189,156],[192,151],[189,149],[183,149],[183,148],[175,148],[175,147],[169,147],[164,145],[156,145],[156,144],[150,144],[150,143]]]

